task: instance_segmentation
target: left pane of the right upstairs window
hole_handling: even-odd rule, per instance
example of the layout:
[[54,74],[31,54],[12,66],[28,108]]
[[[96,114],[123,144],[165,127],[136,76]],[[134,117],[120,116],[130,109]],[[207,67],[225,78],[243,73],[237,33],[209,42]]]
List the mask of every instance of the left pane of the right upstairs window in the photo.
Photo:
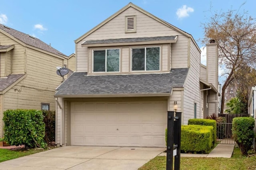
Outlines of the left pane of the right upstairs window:
[[145,49],[132,49],[132,70],[145,70]]

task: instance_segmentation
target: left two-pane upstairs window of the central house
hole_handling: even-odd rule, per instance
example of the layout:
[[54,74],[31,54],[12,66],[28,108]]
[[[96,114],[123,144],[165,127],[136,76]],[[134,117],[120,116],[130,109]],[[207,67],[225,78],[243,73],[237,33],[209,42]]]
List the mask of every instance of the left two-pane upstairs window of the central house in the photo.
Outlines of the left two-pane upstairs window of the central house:
[[93,72],[119,72],[120,49],[93,51]]

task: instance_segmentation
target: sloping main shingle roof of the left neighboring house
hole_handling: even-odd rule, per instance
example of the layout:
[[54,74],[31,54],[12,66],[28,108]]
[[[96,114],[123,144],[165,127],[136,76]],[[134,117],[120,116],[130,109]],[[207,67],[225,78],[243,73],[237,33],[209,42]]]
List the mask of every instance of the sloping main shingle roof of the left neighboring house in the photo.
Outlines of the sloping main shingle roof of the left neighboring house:
[[0,29],[2,29],[6,33],[12,35],[13,37],[19,39],[20,41],[22,41],[25,44],[31,45],[33,47],[36,47],[36,48],[39,48],[39,49],[42,49],[42,50],[45,50],[45,51],[48,51],[50,53],[54,53],[56,55],[64,55],[60,51],[52,48],[51,46],[49,46],[48,44],[44,43],[43,41],[41,41],[40,39],[38,39],[36,37],[32,37],[28,34],[22,33],[20,31],[17,31],[15,29],[10,28],[10,27],[6,27],[2,24],[0,24]]

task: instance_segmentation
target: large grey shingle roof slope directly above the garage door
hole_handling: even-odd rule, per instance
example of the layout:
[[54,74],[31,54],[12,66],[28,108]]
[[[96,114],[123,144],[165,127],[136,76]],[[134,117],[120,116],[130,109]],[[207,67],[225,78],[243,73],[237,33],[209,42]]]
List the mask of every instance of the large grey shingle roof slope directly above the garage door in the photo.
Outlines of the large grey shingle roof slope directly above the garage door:
[[188,68],[174,68],[160,74],[118,74],[88,76],[74,72],[55,95],[86,94],[158,94],[170,93],[172,87],[183,87]]

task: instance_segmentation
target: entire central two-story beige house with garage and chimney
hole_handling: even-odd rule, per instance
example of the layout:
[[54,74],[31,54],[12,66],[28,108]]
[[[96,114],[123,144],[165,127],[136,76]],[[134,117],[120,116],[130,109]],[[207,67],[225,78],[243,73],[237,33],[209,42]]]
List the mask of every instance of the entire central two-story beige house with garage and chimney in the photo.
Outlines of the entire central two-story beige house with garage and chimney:
[[75,44],[76,71],[54,95],[56,144],[165,147],[167,111],[183,124],[216,113],[215,43],[201,66],[192,35],[129,3]]

